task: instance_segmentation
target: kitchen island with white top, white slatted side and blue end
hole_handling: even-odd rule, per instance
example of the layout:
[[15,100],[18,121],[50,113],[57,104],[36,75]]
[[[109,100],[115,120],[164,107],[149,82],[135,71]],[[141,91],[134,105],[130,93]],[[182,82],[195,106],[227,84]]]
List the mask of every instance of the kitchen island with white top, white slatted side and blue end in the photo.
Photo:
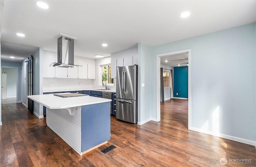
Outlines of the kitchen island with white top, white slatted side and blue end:
[[46,106],[46,124],[78,154],[110,139],[110,99],[92,96],[62,98],[53,94],[28,96]]

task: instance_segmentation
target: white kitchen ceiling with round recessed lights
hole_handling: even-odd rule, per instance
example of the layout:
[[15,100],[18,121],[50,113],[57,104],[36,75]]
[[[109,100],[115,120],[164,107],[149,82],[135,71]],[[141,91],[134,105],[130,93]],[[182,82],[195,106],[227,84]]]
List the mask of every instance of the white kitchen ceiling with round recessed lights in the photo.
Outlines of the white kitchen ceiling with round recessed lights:
[[[57,37],[63,33],[78,38],[75,55],[95,58],[138,42],[155,46],[256,22],[256,0],[43,0],[47,10],[36,2],[6,0],[1,42],[56,52]],[[180,18],[184,11],[190,11],[190,17]]]

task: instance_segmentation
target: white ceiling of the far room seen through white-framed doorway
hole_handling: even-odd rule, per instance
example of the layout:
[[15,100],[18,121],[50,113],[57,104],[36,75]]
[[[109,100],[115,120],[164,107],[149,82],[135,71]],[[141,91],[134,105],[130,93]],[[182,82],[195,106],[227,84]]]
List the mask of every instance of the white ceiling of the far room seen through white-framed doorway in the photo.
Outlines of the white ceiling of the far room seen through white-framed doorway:
[[[167,62],[165,62],[167,61]],[[160,63],[170,67],[182,67],[188,65],[188,53],[160,57]],[[179,66],[179,65],[180,66]]]

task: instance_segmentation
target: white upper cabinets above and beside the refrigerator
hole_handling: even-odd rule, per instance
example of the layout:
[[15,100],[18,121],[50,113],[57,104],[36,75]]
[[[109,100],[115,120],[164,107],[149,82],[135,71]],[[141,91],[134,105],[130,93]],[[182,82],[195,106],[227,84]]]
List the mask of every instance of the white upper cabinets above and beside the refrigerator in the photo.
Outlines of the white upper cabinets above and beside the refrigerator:
[[111,54],[111,78],[116,78],[116,67],[138,65],[138,47]]

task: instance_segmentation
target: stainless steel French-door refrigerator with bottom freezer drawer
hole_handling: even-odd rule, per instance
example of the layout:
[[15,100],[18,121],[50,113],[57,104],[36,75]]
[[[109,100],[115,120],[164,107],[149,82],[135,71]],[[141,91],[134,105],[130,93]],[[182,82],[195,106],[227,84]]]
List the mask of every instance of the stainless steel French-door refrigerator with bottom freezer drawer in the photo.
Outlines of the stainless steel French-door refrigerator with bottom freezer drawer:
[[116,118],[137,124],[138,65],[116,67]]

